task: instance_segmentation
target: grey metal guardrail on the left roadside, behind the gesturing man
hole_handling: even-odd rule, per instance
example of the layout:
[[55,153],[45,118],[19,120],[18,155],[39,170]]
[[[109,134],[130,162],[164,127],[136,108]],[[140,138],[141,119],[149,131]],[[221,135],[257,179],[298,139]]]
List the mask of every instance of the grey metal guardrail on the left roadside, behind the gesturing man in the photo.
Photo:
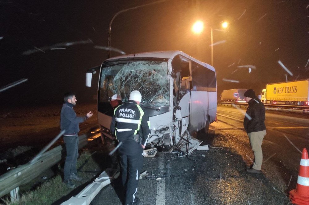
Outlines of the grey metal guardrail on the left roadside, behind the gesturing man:
[[[98,132],[98,130],[96,130],[96,132]],[[100,133],[93,136],[94,133],[95,132],[91,132],[78,136],[78,149],[84,147],[87,144],[87,141],[91,141],[100,136]],[[57,164],[61,160],[61,157],[64,157],[62,154],[62,146],[59,145],[43,153],[35,162],[30,161],[27,164],[19,165],[17,168],[11,169],[9,172],[2,174],[0,176],[0,197],[8,194],[19,186],[30,182],[45,170]]]

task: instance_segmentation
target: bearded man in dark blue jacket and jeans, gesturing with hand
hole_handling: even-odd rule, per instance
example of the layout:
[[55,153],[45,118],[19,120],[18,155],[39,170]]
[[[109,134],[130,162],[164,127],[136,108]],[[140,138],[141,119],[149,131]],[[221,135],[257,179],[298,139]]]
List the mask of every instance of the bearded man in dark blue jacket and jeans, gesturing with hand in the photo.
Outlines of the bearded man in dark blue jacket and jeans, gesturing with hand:
[[66,161],[64,163],[64,177],[63,182],[69,188],[74,188],[75,184],[71,180],[81,181],[76,170],[76,163],[78,157],[78,132],[79,123],[84,122],[90,118],[93,113],[88,112],[85,116],[76,116],[73,107],[76,105],[76,97],[74,93],[66,93],[64,95],[64,102],[60,113],[60,128],[65,130],[63,140],[66,143]]

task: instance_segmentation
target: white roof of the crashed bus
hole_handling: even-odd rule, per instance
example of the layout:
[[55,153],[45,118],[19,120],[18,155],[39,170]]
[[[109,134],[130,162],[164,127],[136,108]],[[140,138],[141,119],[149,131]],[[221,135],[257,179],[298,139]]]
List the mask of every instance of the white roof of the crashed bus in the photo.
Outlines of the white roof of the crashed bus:
[[168,58],[168,59],[173,59],[176,55],[182,55],[192,61],[197,62],[198,64],[201,64],[203,66],[205,66],[206,68],[215,71],[214,67],[201,62],[191,56],[189,56],[188,54],[185,54],[182,51],[155,51],[155,52],[144,52],[144,53],[134,53],[134,54],[129,54],[129,55],[123,55],[123,56],[116,56],[116,57],[112,57],[112,58],[108,58],[107,60],[115,60],[115,59],[120,59],[120,58]]

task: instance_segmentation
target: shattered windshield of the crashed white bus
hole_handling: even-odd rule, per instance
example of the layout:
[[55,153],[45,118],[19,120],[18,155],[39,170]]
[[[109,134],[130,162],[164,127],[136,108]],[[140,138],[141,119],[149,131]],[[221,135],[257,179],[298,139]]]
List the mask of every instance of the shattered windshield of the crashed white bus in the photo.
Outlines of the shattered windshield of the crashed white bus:
[[169,81],[166,61],[112,61],[101,71],[99,103],[107,102],[113,94],[120,94],[128,102],[129,94],[138,90],[141,105],[160,107],[169,105]]

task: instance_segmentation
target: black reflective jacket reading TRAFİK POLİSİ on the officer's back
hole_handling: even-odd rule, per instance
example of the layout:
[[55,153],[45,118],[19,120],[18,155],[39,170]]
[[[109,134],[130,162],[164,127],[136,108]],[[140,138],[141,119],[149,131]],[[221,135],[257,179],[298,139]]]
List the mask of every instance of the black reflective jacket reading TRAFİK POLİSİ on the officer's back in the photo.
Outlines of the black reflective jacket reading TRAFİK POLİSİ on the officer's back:
[[119,142],[134,140],[133,135],[139,134],[142,136],[141,144],[146,146],[150,135],[148,113],[135,101],[129,100],[114,110],[110,130]]

